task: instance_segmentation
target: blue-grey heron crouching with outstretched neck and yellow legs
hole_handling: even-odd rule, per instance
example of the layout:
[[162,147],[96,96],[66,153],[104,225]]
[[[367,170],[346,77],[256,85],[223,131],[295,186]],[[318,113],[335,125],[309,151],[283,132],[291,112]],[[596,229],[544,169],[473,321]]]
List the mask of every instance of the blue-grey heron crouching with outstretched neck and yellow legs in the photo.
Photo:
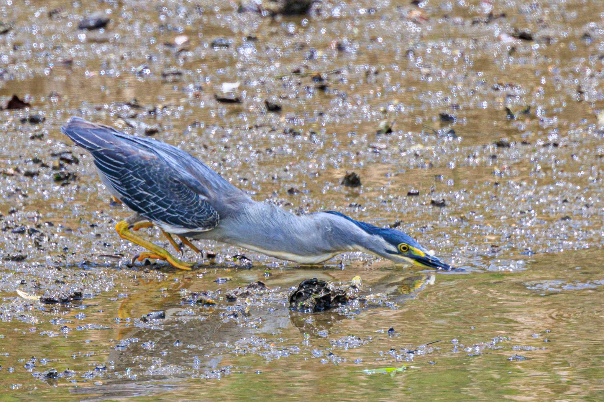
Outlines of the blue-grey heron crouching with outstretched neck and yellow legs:
[[452,267],[431,256],[402,231],[355,221],[339,212],[294,215],[271,202],[257,202],[182,149],[130,136],[73,117],[61,131],[94,157],[103,184],[134,215],[115,225],[123,239],[149,250],[137,259],[161,259],[190,269],[164,248],[133,233],[157,226],[201,253],[189,240],[229,243],[271,257],[318,264],[346,251],[362,251],[420,267]]

